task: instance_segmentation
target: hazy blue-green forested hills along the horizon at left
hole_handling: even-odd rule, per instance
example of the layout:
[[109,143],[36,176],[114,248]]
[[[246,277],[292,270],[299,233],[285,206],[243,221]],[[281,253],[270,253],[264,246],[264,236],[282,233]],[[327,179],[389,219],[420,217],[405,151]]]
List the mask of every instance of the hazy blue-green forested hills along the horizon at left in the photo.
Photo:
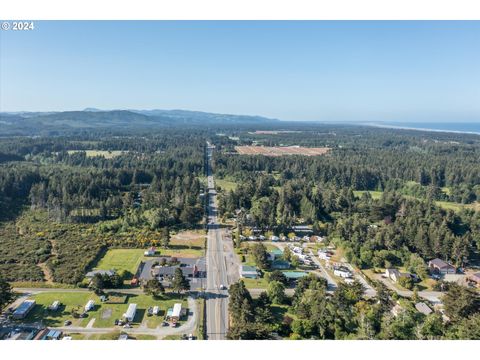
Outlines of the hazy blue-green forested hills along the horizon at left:
[[261,116],[214,114],[186,110],[99,110],[45,113],[0,113],[0,135],[40,135],[92,129],[148,129],[180,125],[259,124],[276,122]]

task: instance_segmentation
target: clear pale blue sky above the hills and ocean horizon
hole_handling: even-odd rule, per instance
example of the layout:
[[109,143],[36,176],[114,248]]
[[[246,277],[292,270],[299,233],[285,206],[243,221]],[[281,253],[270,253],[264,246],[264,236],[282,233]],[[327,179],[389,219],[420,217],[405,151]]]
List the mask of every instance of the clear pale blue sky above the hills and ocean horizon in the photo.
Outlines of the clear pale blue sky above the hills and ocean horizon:
[[40,21],[0,31],[0,111],[480,122],[480,21]]

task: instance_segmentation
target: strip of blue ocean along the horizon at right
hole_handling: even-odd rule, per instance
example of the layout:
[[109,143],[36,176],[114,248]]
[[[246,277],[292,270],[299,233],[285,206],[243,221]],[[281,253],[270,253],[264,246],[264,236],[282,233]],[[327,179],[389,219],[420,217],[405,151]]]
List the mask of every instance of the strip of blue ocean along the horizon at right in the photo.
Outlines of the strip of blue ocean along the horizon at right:
[[379,122],[368,123],[365,125],[415,130],[449,131],[480,135],[480,122]]

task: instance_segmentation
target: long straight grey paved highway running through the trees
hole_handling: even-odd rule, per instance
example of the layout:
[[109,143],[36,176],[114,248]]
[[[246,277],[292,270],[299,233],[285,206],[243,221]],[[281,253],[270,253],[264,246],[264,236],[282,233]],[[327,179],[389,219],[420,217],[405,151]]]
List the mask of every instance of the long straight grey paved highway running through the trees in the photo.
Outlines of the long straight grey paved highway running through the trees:
[[[207,339],[225,339],[228,330],[229,270],[227,257],[231,257],[223,239],[222,229],[217,222],[217,194],[212,174],[212,152],[214,147],[207,144],[208,182],[208,240],[207,240]],[[231,242],[231,240],[230,240]],[[230,244],[228,244],[230,245]],[[231,279],[233,280],[233,279]],[[223,286],[225,287],[223,289]]]

